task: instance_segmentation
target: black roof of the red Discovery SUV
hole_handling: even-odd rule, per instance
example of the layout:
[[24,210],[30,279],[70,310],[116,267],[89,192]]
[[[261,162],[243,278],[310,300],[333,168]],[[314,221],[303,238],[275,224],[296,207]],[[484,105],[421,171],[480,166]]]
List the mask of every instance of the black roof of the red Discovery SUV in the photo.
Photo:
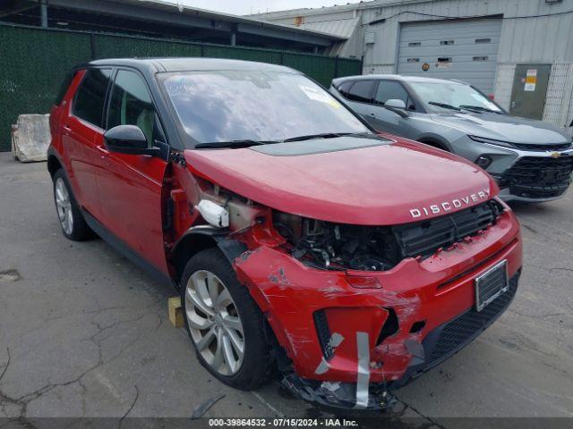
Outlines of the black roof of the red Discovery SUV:
[[227,60],[204,57],[170,58],[108,58],[95,60],[90,65],[127,66],[136,69],[154,69],[154,71],[206,71],[206,70],[253,70],[253,71],[295,71],[284,65],[256,63],[253,61]]

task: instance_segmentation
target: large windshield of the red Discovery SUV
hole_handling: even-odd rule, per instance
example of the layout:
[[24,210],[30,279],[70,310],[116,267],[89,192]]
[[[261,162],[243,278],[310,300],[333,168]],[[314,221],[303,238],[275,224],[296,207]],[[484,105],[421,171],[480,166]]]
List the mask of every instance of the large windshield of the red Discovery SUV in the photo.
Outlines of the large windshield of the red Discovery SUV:
[[368,130],[327,91],[289,72],[191,71],[162,77],[184,130],[197,143],[284,140]]

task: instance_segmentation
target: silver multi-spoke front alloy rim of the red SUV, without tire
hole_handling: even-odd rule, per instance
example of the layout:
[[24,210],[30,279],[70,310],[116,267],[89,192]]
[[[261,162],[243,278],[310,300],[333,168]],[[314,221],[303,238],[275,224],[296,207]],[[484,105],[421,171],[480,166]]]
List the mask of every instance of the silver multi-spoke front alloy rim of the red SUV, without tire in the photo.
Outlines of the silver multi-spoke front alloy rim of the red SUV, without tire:
[[187,323],[201,357],[218,374],[236,374],[243,365],[244,332],[227,287],[214,273],[198,270],[185,288]]

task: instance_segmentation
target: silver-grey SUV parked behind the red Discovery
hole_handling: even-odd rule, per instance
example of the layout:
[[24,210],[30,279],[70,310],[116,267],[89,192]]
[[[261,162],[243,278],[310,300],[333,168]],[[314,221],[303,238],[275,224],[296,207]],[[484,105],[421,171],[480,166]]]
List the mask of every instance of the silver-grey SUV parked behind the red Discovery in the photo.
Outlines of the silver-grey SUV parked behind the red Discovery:
[[507,201],[561,198],[571,183],[573,146],[563,130],[509,116],[464,82],[366,75],[333,80],[330,91],[376,130],[479,165],[495,178]]

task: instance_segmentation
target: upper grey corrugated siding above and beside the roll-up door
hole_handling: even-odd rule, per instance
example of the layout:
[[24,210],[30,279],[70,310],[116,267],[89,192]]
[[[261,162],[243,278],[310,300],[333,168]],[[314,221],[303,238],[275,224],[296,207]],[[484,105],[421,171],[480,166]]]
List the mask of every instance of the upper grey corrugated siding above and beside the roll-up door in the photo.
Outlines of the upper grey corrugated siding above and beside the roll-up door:
[[[573,13],[551,17],[515,19],[518,16],[563,13],[572,0],[546,4],[544,0],[439,0],[425,2],[378,2],[362,12],[365,31],[374,33],[375,43],[364,46],[364,67],[395,64],[400,22],[440,20],[443,16],[471,17],[503,15],[499,63],[573,62]],[[406,13],[407,12],[407,13]],[[416,13],[424,13],[416,14]],[[440,15],[440,16],[428,16]],[[379,24],[369,22],[381,20]],[[565,37],[563,37],[565,36]]]

